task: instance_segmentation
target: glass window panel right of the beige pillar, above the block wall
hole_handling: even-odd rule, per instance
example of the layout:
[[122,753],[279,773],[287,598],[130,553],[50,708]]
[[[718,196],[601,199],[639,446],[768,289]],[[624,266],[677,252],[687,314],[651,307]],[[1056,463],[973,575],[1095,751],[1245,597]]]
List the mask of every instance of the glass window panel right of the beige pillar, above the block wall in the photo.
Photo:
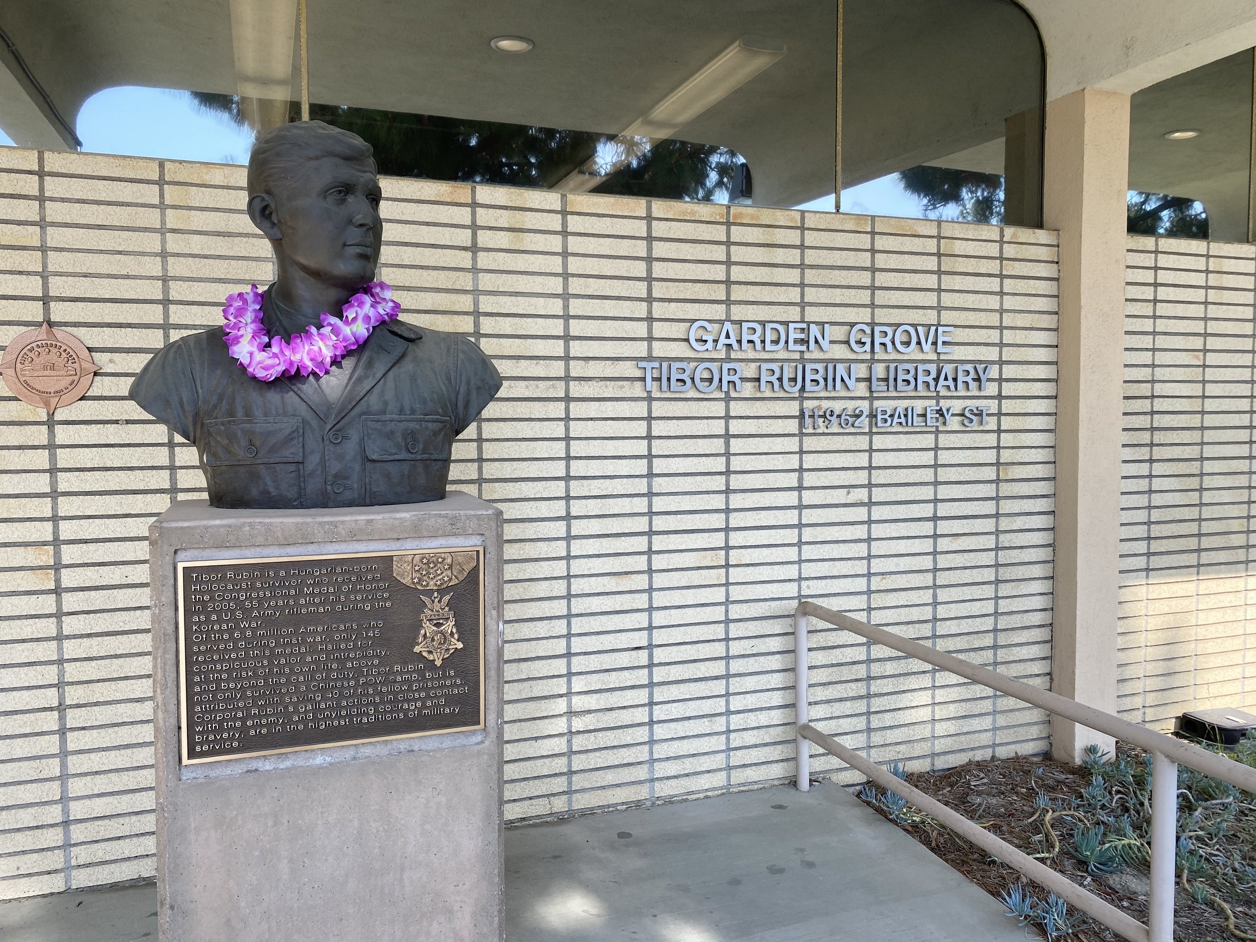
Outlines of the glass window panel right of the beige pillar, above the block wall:
[[1135,92],[1129,231],[1248,241],[1251,122],[1250,49]]

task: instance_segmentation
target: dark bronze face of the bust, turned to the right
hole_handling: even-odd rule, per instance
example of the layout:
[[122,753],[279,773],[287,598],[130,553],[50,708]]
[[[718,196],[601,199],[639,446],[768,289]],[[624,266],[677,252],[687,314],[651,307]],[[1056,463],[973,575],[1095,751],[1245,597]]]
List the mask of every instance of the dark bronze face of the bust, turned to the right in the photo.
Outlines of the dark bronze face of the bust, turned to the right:
[[383,222],[371,161],[303,161],[276,191],[276,251],[328,285],[357,289],[374,279]]

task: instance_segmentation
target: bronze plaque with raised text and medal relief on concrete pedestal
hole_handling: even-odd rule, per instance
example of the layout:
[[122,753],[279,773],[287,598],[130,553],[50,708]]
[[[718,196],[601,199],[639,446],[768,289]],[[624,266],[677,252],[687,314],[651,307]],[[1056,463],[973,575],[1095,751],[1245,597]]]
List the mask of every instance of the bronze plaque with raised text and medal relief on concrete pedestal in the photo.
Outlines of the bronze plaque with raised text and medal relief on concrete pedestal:
[[185,764],[484,728],[484,548],[177,568]]

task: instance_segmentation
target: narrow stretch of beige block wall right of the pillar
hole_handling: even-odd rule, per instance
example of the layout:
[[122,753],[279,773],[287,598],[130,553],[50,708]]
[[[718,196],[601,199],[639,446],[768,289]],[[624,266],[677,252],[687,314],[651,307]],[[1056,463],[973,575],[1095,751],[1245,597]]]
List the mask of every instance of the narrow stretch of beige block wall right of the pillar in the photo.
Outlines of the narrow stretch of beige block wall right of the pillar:
[[1256,246],[1130,236],[1120,711],[1256,707]]

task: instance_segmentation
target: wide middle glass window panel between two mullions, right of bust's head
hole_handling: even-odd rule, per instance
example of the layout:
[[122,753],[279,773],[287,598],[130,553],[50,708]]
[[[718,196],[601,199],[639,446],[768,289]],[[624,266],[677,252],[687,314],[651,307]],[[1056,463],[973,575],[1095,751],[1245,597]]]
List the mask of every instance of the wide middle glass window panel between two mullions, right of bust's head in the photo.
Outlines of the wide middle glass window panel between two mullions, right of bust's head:
[[[309,43],[311,117],[363,134],[389,172],[766,206],[833,191],[828,0],[387,9],[382,33],[360,4],[310,0]],[[373,54],[340,54],[355,43]]]

